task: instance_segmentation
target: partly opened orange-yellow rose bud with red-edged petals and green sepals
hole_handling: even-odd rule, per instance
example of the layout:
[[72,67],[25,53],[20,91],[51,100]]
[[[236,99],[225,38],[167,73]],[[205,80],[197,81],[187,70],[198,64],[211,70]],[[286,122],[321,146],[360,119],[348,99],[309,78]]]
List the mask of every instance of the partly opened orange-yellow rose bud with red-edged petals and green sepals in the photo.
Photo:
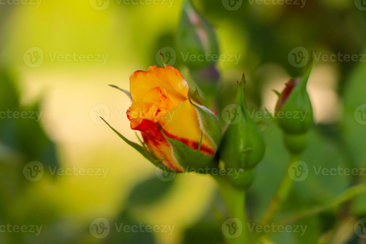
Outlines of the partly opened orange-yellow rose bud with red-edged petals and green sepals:
[[188,83],[171,66],[149,67],[130,77],[131,129],[141,131],[146,148],[137,149],[154,164],[183,172],[210,165],[221,140],[214,113],[188,98]]

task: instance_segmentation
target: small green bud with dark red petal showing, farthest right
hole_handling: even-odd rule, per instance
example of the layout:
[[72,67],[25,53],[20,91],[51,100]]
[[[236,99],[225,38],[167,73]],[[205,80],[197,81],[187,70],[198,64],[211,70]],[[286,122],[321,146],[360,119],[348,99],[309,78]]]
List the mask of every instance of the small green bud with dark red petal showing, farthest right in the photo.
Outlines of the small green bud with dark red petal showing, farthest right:
[[303,134],[313,124],[313,108],[306,86],[311,67],[302,78],[290,80],[279,95],[276,119],[287,134]]

